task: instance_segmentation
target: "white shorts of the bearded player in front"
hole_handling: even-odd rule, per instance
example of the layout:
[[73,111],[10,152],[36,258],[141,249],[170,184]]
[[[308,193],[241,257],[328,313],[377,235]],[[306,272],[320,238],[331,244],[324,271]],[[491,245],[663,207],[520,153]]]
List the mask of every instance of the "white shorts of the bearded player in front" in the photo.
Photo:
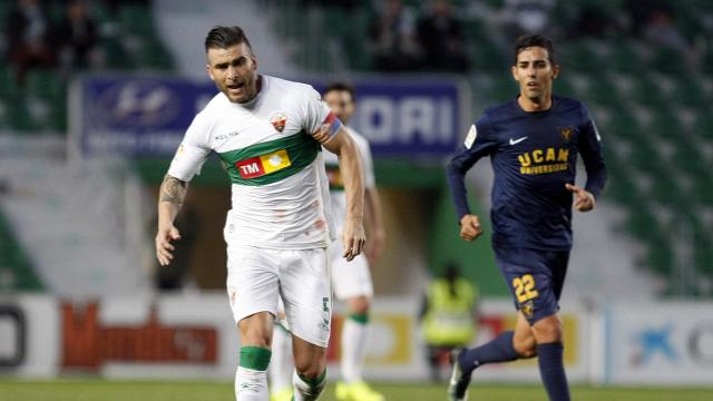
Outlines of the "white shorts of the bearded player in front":
[[282,297],[292,333],[326,348],[332,299],[324,248],[228,246],[227,293],[235,322],[257,312],[277,314]]

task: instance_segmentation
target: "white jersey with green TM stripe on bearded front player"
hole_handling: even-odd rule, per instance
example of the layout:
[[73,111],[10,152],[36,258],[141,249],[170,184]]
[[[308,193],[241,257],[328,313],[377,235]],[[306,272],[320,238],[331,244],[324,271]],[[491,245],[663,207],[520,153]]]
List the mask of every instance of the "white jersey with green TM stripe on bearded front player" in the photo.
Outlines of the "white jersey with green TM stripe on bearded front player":
[[335,229],[322,151],[310,134],[334,117],[311,86],[261,79],[250,102],[233,104],[218,94],[196,115],[168,174],[191,180],[215,151],[232,182],[229,245],[325,247]]

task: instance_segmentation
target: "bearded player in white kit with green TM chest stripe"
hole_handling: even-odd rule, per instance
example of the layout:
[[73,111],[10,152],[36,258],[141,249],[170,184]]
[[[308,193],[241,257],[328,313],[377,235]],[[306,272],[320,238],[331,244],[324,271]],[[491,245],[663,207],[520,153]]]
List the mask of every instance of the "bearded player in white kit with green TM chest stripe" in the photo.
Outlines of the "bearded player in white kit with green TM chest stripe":
[[281,297],[292,330],[294,399],[324,389],[331,323],[326,247],[334,238],[320,145],[339,155],[346,193],[343,257],[362,252],[363,178],[359,150],[309,85],[257,74],[238,27],[215,27],[206,39],[207,72],[219,89],[193,120],[164,178],[156,256],[170,263],[180,239],[174,218],[188,182],[214,151],[232,182],[227,293],[241,339],[237,401],[267,400],[273,317]]

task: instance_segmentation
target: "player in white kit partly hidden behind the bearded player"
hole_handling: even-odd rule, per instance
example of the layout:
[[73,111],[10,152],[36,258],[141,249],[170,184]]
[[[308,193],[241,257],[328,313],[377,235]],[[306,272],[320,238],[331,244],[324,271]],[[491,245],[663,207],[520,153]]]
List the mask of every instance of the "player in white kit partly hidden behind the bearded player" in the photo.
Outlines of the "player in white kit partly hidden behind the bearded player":
[[[354,114],[354,91],[351,86],[343,82],[334,82],[326,87],[323,95],[324,101],[330,106],[345,125]],[[381,203],[377,192],[373,163],[369,143],[354,129],[346,127],[359,148],[362,159],[364,176],[364,217],[369,231],[369,244],[364,255],[346,262],[340,257],[342,245],[334,243],[330,247],[332,257],[332,284],[334,295],[339,300],[346,301],[348,315],[344,320],[341,338],[341,380],[336,383],[336,399],[340,401],[381,401],[383,395],[373,391],[362,380],[364,359],[369,341],[369,306],[373,296],[373,286],[369,265],[373,265],[379,257],[385,239]],[[338,229],[342,226],[341,216],[346,207],[344,183],[340,173],[336,157],[324,155],[324,163],[330,178],[330,193],[332,211]],[[273,351],[275,360],[281,363],[271,368],[271,385],[274,391],[273,401],[290,400],[289,387],[289,334],[284,327],[275,330]]]

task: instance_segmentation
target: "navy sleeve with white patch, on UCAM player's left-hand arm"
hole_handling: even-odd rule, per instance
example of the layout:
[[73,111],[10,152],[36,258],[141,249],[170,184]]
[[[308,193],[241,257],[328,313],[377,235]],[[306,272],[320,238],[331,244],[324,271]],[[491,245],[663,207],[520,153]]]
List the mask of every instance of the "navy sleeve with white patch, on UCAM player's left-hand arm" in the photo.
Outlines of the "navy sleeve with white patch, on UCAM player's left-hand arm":
[[480,117],[470,126],[466,140],[458,147],[456,154],[446,167],[450,196],[456,206],[458,221],[470,214],[468,206],[465,176],[466,173],[484,156],[491,155],[497,148],[497,138],[492,134],[488,115]]

